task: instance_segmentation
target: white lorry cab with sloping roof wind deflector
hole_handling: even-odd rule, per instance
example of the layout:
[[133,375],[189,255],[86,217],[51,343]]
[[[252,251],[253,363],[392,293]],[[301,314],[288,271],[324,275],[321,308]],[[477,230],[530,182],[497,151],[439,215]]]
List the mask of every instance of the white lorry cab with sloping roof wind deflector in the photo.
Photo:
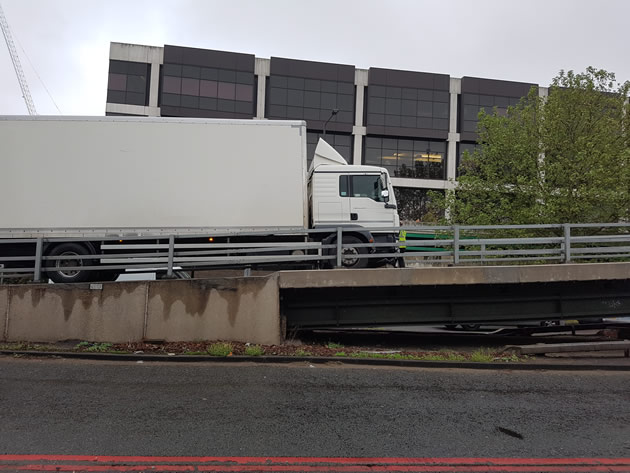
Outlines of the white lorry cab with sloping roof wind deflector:
[[349,165],[320,139],[309,170],[312,227],[399,225],[396,198],[386,169]]

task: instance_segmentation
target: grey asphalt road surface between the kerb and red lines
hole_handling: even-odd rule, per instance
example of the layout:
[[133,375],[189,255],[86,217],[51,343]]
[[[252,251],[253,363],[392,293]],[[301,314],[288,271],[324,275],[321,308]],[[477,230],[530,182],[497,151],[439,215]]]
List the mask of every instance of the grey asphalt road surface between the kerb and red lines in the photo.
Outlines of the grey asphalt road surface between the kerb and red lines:
[[7,454],[630,457],[630,377],[2,357]]

